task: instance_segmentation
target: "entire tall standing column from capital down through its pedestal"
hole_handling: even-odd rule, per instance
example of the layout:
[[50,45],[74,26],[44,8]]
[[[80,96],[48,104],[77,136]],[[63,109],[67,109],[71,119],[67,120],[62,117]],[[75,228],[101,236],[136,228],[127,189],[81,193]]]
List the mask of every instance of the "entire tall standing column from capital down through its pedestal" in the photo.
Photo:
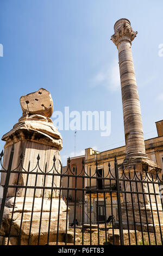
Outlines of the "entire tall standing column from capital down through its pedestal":
[[[148,169],[148,175],[151,177],[157,172],[161,172],[161,168],[157,164],[151,161],[145,151],[145,142],[143,138],[143,129],[142,129],[142,119],[141,119],[141,109],[140,101],[137,90],[133,57],[131,52],[131,41],[136,37],[137,32],[134,32],[130,26],[130,21],[127,19],[120,19],[115,23],[114,26],[115,34],[111,36],[111,40],[117,46],[118,49],[118,58],[120,66],[120,77],[121,77],[121,92],[122,92],[122,105],[123,105],[123,120],[124,120],[124,133],[126,139],[126,158],[123,162],[123,167],[120,164],[120,174],[122,169],[129,178],[129,172],[131,178],[134,173],[134,166],[136,174],[139,178],[142,175],[145,176],[144,167]],[[128,172],[129,171],[129,172]],[[130,184],[126,182],[126,190],[130,191]],[[123,184],[122,184],[123,187]],[[149,192],[153,191],[153,185],[149,184]],[[131,182],[131,190],[136,192],[136,186],[134,182]],[[142,191],[148,192],[147,184],[143,184],[143,188],[138,186],[138,192]],[[156,192],[159,191],[158,186],[155,185]],[[125,199],[123,198],[123,201]],[[159,214],[161,218],[161,223],[163,223],[162,218],[162,206],[159,196],[157,196]],[[142,196],[139,196],[139,201],[141,205],[142,212],[142,221],[144,223],[146,220],[146,212],[148,215],[148,223],[153,223],[152,221],[152,212],[149,205],[149,197],[145,195],[145,200]],[[138,210],[137,195],[133,194],[133,203],[135,209],[135,222],[140,223],[140,215]],[[158,217],[156,214],[156,202],[154,196],[152,197],[153,204],[153,214],[154,214],[154,223],[158,224]],[[122,204],[122,215],[123,221],[126,221],[126,209],[123,207],[125,203]],[[134,223],[133,218],[133,209],[131,204],[131,196],[128,194],[127,205],[129,211],[129,222]],[[146,205],[146,212],[145,212]]]

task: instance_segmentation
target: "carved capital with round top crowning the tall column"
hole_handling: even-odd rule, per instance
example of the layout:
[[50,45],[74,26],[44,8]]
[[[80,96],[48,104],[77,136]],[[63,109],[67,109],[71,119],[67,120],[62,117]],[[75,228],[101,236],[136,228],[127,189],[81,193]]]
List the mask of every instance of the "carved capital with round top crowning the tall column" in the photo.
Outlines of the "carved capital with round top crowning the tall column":
[[137,31],[134,32],[130,26],[130,22],[127,19],[118,20],[114,26],[115,33],[111,36],[111,40],[117,46],[120,41],[128,40],[133,41],[136,37]]

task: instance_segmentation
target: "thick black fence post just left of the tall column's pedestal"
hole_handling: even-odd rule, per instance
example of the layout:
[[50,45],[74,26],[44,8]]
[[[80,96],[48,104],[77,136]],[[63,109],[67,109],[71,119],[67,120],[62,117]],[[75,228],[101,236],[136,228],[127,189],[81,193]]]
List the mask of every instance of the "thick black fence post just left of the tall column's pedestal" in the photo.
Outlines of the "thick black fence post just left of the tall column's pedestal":
[[120,181],[119,181],[119,175],[118,175],[118,165],[117,165],[116,156],[115,156],[115,176],[116,176],[116,187],[117,187],[118,222],[119,222],[119,228],[120,228],[120,245],[124,245],[121,196],[120,196]]

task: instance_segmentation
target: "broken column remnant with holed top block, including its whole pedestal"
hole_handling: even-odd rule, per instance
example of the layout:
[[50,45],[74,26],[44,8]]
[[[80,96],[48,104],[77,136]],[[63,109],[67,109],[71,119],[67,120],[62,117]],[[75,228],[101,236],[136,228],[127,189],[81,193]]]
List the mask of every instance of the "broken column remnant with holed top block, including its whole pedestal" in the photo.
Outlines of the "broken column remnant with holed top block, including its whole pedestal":
[[[41,88],[35,93],[30,93],[22,96],[20,98],[20,103],[23,111],[22,117],[18,120],[18,123],[14,125],[13,129],[2,137],[2,140],[6,142],[4,146],[3,168],[8,168],[9,156],[12,145],[14,143],[14,157],[12,160],[11,170],[20,170],[21,172],[23,172],[23,170],[29,170],[29,175],[27,180],[27,173],[25,171],[24,173],[19,175],[19,178],[18,173],[11,173],[9,185],[17,184],[20,186],[35,186],[36,182],[36,186],[40,187],[60,187],[60,176],[54,175],[54,180],[52,180],[52,175],[46,175],[45,181],[44,175],[37,175],[36,181],[36,175],[30,173],[33,169],[35,169],[36,166],[37,167],[34,172],[40,173],[41,170],[42,172],[45,172],[46,168],[46,172],[49,172],[49,170],[51,170],[51,172],[49,173],[53,173],[53,171],[54,173],[56,173],[53,167],[54,157],[55,168],[57,169],[57,172],[60,173],[61,170],[59,150],[62,149],[62,138],[56,127],[54,127],[53,122],[50,118],[53,113],[53,100],[51,94],[46,89]],[[22,160],[21,164],[19,165],[20,156]],[[1,185],[5,184],[5,178],[6,173],[1,173]],[[0,234],[0,241],[3,242],[5,240],[5,237],[8,237],[9,234],[15,191],[16,188],[8,188]],[[23,203],[25,204],[20,243],[21,245],[28,244],[30,218],[32,216],[32,205],[34,197],[35,200],[33,209],[32,229],[30,233],[30,244],[37,244],[41,214],[42,221],[39,243],[40,245],[47,243],[51,197],[52,210],[49,242],[55,242],[58,225],[59,191],[53,190],[52,193],[52,190],[45,189],[43,193],[42,189],[36,189],[34,195],[34,189],[27,188],[25,201],[24,193],[24,188],[17,188],[9,244],[17,244],[18,235],[20,235]],[[62,199],[60,199],[59,219],[59,241],[62,241],[62,239],[64,239],[63,237],[66,230],[66,205]]]

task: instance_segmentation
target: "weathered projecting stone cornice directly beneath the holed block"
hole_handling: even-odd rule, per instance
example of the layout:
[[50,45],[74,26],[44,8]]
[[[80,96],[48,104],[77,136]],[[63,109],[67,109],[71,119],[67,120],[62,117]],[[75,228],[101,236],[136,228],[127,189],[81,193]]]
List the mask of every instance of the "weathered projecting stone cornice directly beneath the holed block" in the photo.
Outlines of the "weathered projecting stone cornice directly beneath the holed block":
[[13,129],[3,135],[2,140],[6,142],[4,148],[13,142],[30,141],[62,149],[62,137],[52,119],[39,114],[21,117]]

